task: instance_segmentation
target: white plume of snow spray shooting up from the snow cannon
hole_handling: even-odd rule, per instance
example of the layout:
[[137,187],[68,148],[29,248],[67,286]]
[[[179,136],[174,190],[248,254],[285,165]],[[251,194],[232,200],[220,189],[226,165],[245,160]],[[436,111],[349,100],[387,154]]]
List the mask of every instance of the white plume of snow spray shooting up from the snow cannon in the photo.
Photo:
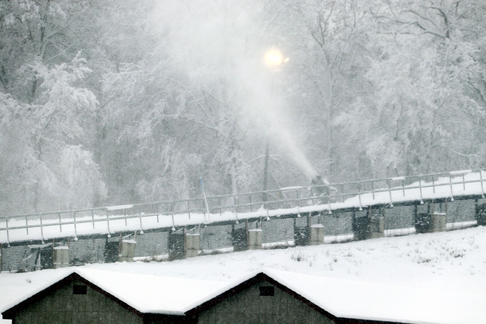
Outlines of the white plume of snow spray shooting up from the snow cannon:
[[[269,68],[264,62],[269,48],[261,44],[269,44],[281,34],[278,24],[265,20],[268,10],[272,9],[257,0],[162,1],[153,21],[156,28],[162,24],[158,28],[164,51],[175,65],[187,71],[191,82],[209,93],[229,96],[230,105],[238,106],[241,116],[247,119],[239,121],[247,123],[243,127],[257,126],[257,137],[266,133],[267,139],[285,149],[312,181],[318,172],[290,133],[295,127],[279,96],[278,88],[282,87],[278,83],[284,79],[284,71]],[[265,24],[268,26],[262,33]]]

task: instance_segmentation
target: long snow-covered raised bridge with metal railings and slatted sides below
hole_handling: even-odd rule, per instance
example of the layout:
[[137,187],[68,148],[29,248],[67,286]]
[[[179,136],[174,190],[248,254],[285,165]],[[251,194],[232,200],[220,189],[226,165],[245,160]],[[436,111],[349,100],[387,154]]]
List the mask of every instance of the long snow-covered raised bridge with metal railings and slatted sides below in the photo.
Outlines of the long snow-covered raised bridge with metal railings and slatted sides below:
[[[70,263],[114,261],[122,239],[136,238],[135,256],[167,255],[183,233],[198,234],[200,250],[210,252],[246,248],[247,233],[255,229],[261,230],[265,246],[306,244],[311,226],[323,228],[323,242],[364,239],[370,231],[381,236],[411,234],[423,231],[433,213],[445,213],[447,229],[467,227],[485,221],[485,176],[485,171],[464,170],[1,216],[2,269],[11,270],[5,257],[14,250],[24,251],[14,263],[34,262],[42,268],[42,250],[52,255],[52,247],[59,245],[79,250],[70,253]],[[37,256],[26,261],[32,249],[38,250]]]

